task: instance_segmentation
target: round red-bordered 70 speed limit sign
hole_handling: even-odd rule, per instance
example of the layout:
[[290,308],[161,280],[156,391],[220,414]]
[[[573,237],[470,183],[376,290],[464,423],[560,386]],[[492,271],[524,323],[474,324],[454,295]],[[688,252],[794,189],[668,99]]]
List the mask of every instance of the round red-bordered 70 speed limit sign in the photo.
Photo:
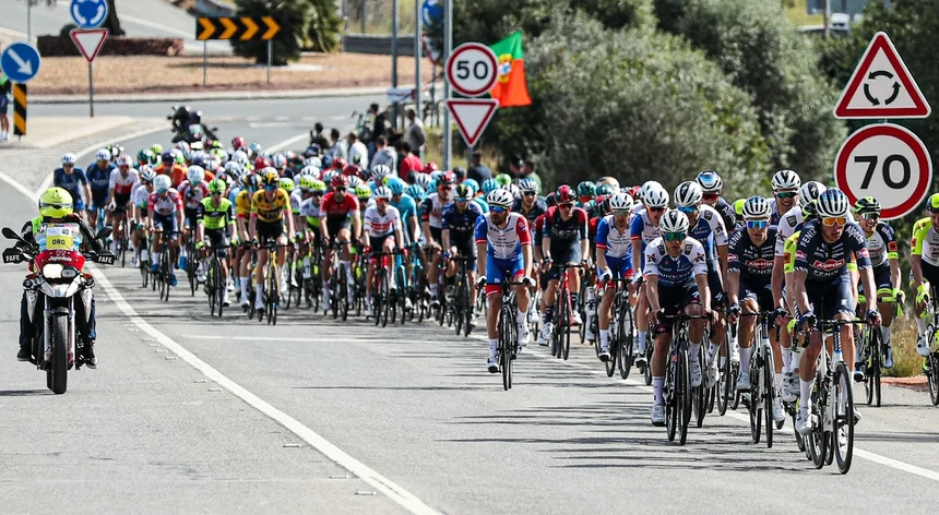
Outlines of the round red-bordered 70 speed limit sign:
[[906,128],[867,125],[837,151],[834,183],[852,204],[861,196],[873,196],[883,206],[882,218],[900,218],[929,193],[932,161],[926,145]]

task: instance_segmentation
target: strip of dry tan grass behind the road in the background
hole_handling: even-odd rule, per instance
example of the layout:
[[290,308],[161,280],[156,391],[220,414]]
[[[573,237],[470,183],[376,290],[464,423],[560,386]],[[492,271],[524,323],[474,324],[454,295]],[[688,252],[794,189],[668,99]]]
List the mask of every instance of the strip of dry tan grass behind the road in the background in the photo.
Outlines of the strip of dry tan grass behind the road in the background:
[[[391,58],[364,53],[320,53],[295,63],[296,71],[274,68],[268,84],[265,67],[239,57],[210,57],[209,86],[202,86],[201,57],[103,56],[95,60],[98,94],[166,93],[180,91],[322,89],[385,86],[391,83]],[[307,69],[304,69],[307,67]],[[319,67],[319,68],[312,68]],[[397,60],[399,84],[414,82],[414,58]],[[430,61],[423,65],[425,81],[432,76]],[[84,94],[88,69],[81,57],[43,59],[43,71],[29,83],[29,93]]]

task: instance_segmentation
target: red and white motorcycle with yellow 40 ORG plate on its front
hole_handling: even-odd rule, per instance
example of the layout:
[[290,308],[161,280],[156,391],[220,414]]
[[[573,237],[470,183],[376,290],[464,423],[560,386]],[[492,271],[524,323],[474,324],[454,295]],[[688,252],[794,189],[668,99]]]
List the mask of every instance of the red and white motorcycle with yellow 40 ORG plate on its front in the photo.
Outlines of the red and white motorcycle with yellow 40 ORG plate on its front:
[[[85,261],[112,265],[115,255],[109,251],[75,251],[81,248],[82,232],[74,223],[44,225],[35,235],[36,243],[27,242],[9,227],[4,227],[2,233],[20,243],[3,251],[3,263],[31,264],[31,273],[23,282],[27,313],[36,328],[31,361],[46,372],[46,387],[63,394],[68,387],[68,371],[72,367],[81,369],[84,362],[83,342],[76,343],[75,338],[75,302],[83,303],[83,312],[88,316],[95,280],[82,270]],[[95,239],[104,240],[110,233],[111,228],[105,227]]]

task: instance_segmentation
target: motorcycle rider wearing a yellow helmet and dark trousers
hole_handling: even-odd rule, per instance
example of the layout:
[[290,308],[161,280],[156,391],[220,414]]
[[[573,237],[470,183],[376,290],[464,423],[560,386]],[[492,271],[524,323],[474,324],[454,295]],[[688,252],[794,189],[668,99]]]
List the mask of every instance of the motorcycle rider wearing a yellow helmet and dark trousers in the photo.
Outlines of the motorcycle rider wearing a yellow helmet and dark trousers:
[[[95,239],[95,233],[92,226],[88,225],[81,216],[74,213],[72,195],[62,188],[49,188],[41,196],[39,196],[39,216],[31,219],[23,226],[22,238],[24,242],[17,242],[16,247],[25,250],[35,244],[35,235],[44,230],[47,224],[78,224],[82,231],[83,251],[92,251],[100,253],[104,250],[102,242]],[[87,295],[92,295],[91,289],[86,289]],[[95,357],[95,298],[92,295],[91,310],[85,323],[84,302],[75,302],[75,321],[79,335],[84,340],[84,361],[90,369],[95,369],[98,366],[98,359]],[[16,359],[20,361],[29,361],[33,355],[33,336],[36,334],[36,326],[33,319],[29,316],[26,291],[23,291],[23,298],[20,301],[20,352],[16,354]]]

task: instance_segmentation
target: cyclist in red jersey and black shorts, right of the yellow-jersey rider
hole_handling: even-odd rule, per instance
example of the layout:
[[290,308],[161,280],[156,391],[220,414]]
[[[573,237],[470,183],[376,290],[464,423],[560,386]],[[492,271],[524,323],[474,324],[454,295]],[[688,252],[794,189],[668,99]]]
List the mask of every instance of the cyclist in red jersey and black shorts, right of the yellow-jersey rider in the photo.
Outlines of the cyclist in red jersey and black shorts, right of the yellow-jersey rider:
[[[349,194],[348,177],[337,175],[333,177],[333,191],[326,193],[320,202],[320,230],[323,236],[323,243],[326,244],[325,255],[323,256],[323,311],[330,310],[330,274],[333,260],[333,243],[340,242],[343,245],[341,262],[346,270],[345,279],[349,285],[354,284],[352,273],[352,239],[356,241],[361,233],[361,217],[358,211],[358,199]],[[343,280],[342,277],[337,280]],[[348,298],[353,299],[355,294],[354,288],[348,288]]]

